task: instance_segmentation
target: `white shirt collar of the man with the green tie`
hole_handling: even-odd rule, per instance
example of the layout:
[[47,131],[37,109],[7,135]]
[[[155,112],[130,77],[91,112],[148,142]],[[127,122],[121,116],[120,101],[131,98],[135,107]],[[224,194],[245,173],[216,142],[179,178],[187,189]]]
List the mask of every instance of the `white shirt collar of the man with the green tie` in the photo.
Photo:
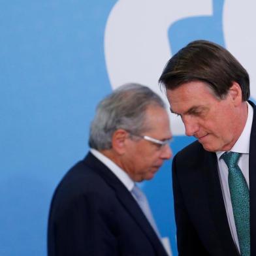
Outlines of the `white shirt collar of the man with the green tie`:
[[[244,126],[244,130],[242,131],[240,137],[231,148],[231,152],[249,153],[249,138],[251,135],[251,125],[253,123],[253,107],[248,102],[246,103],[248,105],[248,117],[246,120],[246,125]],[[225,152],[216,152],[217,158],[219,159],[223,153]]]

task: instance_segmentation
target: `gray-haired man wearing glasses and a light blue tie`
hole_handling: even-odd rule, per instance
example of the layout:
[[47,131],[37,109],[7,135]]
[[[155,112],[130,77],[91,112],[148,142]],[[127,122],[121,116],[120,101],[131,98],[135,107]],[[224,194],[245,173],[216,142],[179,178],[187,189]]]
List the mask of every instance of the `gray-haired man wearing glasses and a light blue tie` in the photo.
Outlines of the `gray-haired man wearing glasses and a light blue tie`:
[[127,84],[103,99],[90,152],[54,193],[48,255],[167,256],[135,182],[152,179],[171,157],[171,137],[165,104],[146,86]]

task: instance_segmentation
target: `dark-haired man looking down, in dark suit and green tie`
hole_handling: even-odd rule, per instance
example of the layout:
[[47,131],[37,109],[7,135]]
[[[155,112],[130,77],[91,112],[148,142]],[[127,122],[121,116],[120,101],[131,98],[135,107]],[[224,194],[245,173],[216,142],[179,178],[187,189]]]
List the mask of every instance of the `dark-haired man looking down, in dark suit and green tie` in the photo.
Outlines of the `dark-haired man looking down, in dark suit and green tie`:
[[225,48],[197,40],[159,79],[197,141],[172,161],[180,255],[256,255],[256,117],[249,76]]

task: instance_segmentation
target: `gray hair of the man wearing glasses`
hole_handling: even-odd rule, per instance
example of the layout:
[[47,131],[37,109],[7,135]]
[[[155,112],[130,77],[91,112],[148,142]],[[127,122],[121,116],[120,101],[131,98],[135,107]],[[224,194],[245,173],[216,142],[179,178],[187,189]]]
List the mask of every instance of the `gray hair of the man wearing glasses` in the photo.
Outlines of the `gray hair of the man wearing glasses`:
[[149,127],[144,123],[148,106],[165,108],[165,103],[152,91],[140,84],[124,84],[105,97],[97,106],[91,122],[89,146],[96,150],[112,148],[112,135],[124,129],[141,135]]

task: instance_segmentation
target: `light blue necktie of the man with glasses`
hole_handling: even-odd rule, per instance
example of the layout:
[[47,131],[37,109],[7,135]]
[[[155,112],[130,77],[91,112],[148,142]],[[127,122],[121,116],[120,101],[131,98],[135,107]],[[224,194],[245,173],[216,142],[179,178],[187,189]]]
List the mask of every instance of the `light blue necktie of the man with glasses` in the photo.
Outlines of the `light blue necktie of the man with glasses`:
[[138,205],[140,206],[142,212],[147,217],[148,221],[150,222],[153,229],[157,233],[157,236],[160,238],[159,231],[157,229],[157,225],[155,224],[155,220],[153,219],[153,215],[152,215],[152,212],[150,210],[150,205],[148,204],[148,200],[146,198],[146,195],[142,192],[142,190],[137,185],[134,185],[131,193],[135,197],[135,199],[138,202]]

